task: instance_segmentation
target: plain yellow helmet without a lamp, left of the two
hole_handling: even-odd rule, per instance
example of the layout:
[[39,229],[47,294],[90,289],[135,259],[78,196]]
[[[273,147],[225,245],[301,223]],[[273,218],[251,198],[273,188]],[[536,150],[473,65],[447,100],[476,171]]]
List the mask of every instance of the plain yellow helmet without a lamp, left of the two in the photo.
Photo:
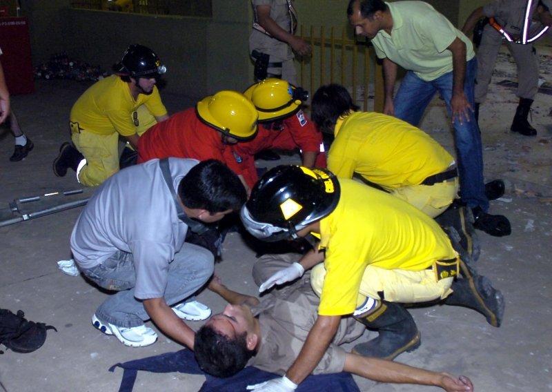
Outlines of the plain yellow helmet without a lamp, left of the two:
[[196,111],[202,122],[235,139],[250,139],[257,132],[257,110],[240,92],[223,90],[205,97]]

